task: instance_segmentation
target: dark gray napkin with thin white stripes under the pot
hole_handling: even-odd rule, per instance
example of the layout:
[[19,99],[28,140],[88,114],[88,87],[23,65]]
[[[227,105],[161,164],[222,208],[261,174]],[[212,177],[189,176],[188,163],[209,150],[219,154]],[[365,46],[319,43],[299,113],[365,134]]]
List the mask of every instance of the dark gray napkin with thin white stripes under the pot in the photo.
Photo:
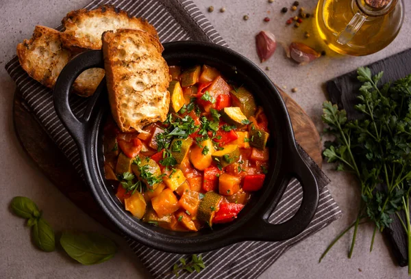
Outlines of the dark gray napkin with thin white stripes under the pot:
[[[191,0],[95,0],[85,8],[97,8],[103,3],[115,5],[132,16],[147,18],[149,23],[157,29],[161,42],[203,40],[227,47],[223,38]],[[61,29],[61,25],[57,29]],[[17,57],[12,58],[6,64],[5,69],[23,94],[27,107],[33,111],[45,131],[73,163],[79,174],[82,174],[77,147],[55,114],[52,90],[31,79],[18,64]],[[70,102],[75,114],[84,113],[86,99],[73,95]],[[319,207],[308,228],[297,237],[287,241],[272,243],[245,241],[204,253],[203,260],[207,268],[199,274],[182,274],[181,278],[256,278],[292,245],[340,217],[341,211],[325,187],[329,179],[302,148],[299,150],[316,175],[320,186]],[[299,182],[296,179],[290,181],[269,222],[282,223],[292,217],[301,204],[302,194]],[[164,273],[169,271],[173,263],[177,262],[182,255],[153,250],[132,239],[127,239],[127,241],[154,278],[173,277],[172,275],[164,276]]]

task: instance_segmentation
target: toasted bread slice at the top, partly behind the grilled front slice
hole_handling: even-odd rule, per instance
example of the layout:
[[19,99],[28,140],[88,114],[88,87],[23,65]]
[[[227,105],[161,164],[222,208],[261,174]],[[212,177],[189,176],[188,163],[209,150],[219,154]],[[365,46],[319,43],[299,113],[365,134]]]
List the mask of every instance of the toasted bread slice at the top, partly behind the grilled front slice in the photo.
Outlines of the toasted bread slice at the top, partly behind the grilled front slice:
[[96,10],[75,10],[69,12],[62,20],[65,30],[62,32],[64,47],[79,49],[101,49],[101,34],[116,29],[137,29],[147,31],[158,38],[157,31],[142,18],[129,16],[127,12],[114,8],[113,5],[102,5]]

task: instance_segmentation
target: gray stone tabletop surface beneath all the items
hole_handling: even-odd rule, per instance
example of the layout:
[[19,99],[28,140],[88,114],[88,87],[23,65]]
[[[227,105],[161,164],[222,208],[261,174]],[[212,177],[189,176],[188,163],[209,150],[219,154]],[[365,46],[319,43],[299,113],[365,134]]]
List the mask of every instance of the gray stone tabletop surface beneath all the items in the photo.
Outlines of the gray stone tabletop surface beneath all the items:
[[[31,36],[34,25],[54,27],[66,12],[81,8],[88,1],[0,1],[0,278],[149,278],[121,237],[97,224],[51,185],[25,155],[13,131],[12,98],[15,85],[3,68],[5,62],[14,55],[16,44]],[[225,13],[218,12],[221,2],[224,2]],[[276,0],[269,4],[266,0],[195,0],[232,49],[249,57],[262,69],[269,66],[267,74],[275,83],[286,87],[286,91],[289,92],[293,87],[299,88],[297,93],[290,95],[322,129],[321,103],[325,100],[323,82],[411,47],[411,21],[406,16],[395,41],[383,51],[366,57],[327,56],[307,66],[297,66],[285,59],[283,49],[278,47],[268,62],[260,64],[254,46],[254,35],[260,29],[273,31],[278,41],[301,40],[301,32],[305,29],[301,27],[295,31],[292,27],[284,27],[286,16],[279,13],[282,6],[288,6],[291,2]],[[313,9],[316,1],[304,0],[300,3],[307,9]],[[206,12],[209,5],[215,8],[211,14]],[[407,5],[410,8],[409,3]],[[249,21],[242,20],[244,14],[249,15]],[[265,16],[271,18],[269,23],[262,21]],[[260,278],[407,278],[406,268],[395,265],[381,235],[377,235],[374,250],[369,253],[371,226],[361,228],[353,258],[347,258],[350,243],[347,235],[321,264],[318,263],[328,243],[354,220],[358,204],[357,185],[353,178],[332,171],[329,165],[325,165],[324,170],[332,179],[329,189],[343,209],[344,216],[290,249]],[[81,266],[61,252],[36,250],[29,241],[29,230],[23,226],[23,220],[13,216],[8,209],[11,198],[18,195],[35,200],[56,230],[73,228],[99,231],[119,243],[119,253],[107,263]]]

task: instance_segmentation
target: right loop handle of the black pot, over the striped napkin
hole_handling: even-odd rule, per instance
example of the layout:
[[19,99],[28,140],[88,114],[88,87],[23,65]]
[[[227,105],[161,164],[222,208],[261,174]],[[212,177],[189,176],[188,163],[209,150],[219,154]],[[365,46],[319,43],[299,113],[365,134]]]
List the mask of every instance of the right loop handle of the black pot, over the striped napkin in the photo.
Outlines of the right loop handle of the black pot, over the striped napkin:
[[[267,220],[275,209],[277,203],[270,202],[268,207],[263,207],[262,213],[254,220],[245,224],[247,239],[258,241],[283,241],[296,237],[310,224],[319,203],[319,187],[314,174],[297,151],[297,146],[292,146],[293,151],[288,156],[281,183],[288,183],[289,178],[297,178],[303,188],[303,201],[297,213],[290,220],[282,224],[270,224]],[[281,175],[280,175],[281,176]],[[280,178],[281,179],[281,178]]]

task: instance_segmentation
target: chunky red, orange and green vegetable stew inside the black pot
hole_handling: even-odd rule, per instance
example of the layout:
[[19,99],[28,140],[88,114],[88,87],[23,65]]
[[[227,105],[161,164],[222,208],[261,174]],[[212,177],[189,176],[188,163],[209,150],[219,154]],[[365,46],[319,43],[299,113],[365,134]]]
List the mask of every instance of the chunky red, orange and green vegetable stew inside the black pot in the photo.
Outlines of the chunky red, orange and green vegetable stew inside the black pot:
[[166,121],[141,133],[105,124],[105,178],[138,219],[197,231],[234,220],[269,168],[268,120],[244,87],[207,65],[170,67]]

